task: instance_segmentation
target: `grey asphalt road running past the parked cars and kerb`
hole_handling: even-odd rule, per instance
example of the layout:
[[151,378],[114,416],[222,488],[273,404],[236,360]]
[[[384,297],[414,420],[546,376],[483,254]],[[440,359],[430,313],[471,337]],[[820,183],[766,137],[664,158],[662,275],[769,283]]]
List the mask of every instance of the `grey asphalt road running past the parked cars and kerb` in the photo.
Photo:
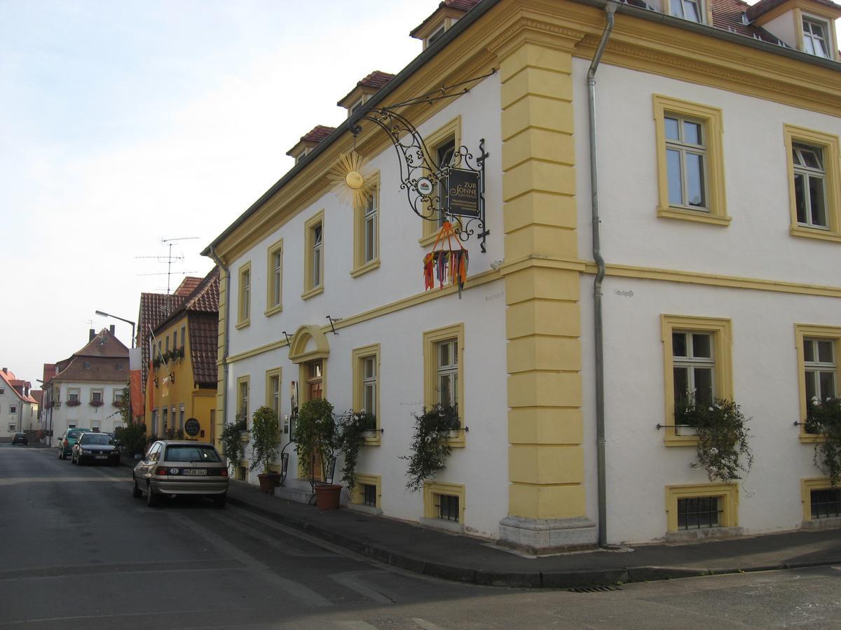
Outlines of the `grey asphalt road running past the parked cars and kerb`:
[[[841,533],[839,533],[841,535]],[[574,593],[395,570],[130,471],[0,444],[0,628],[841,628],[841,567]]]

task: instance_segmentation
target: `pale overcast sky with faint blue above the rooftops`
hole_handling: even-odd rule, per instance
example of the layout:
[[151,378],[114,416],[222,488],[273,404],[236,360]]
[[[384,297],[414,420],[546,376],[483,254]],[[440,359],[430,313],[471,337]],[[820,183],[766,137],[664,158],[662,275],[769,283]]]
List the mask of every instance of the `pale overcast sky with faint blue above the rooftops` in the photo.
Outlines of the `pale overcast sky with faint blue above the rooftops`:
[[[199,252],[373,70],[421,52],[438,0],[0,0],[0,366],[44,363]],[[140,257],[146,258],[140,258]],[[160,256],[160,258],[156,258]],[[90,323],[88,320],[93,320]]]

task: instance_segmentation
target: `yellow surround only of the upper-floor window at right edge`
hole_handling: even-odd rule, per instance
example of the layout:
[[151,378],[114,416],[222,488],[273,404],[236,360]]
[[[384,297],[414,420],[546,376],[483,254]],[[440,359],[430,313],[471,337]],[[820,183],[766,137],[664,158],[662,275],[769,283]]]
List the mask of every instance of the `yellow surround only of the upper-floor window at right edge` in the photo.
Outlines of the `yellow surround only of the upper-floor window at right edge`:
[[[789,213],[792,236],[803,236],[810,239],[832,240],[841,243],[841,150],[838,149],[838,136],[825,134],[815,129],[795,127],[791,124],[783,126],[785,140],[785,165],[788,170],[789,181]],[[823,152],[823,163],[826,169],[827,218],[829,229],[809,228],[797,223],[797,206],[794,189],[794,159],[791,155],[792,145],[795,143],[817,146]]]

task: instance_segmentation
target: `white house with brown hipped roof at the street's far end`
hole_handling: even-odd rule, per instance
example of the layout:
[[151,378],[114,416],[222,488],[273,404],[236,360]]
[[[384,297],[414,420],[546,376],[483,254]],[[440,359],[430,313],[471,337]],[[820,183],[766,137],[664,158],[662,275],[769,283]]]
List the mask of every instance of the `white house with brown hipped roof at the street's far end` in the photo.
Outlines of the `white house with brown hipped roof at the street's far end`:
[[114,326],[98,333],[91,328],[87,345],[44,368],[41,424],[52,432],[48,444],[67,428],[108,433],[122,426],[119,402],[129,386],[129,349],[114,336]]

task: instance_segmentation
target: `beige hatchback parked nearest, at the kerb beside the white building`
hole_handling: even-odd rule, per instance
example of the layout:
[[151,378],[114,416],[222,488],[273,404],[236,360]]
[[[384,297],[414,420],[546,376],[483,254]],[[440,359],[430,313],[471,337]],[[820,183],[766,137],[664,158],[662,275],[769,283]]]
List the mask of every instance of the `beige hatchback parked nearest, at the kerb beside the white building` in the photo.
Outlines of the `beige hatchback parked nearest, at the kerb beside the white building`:
[[132,496],[145,492],[150,507],[161,495],[206,496],[216,507],[225,507],[228,498],[228,464],[213,444],[158,440],[135,466],[132,480]]

